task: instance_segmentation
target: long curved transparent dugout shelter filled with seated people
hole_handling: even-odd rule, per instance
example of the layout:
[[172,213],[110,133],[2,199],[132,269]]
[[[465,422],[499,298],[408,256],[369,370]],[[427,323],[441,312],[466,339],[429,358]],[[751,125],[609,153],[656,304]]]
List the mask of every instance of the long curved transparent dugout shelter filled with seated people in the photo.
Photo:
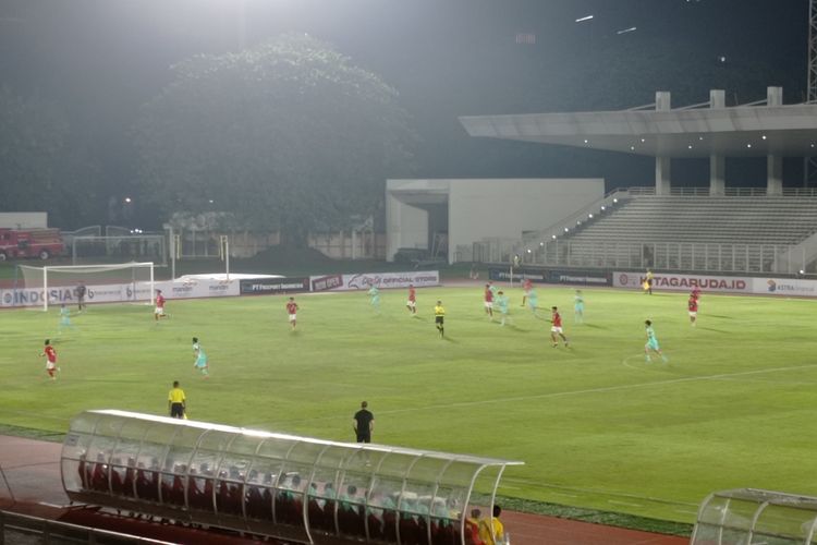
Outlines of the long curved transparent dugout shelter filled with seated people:
[[72,420],[61,474],[72,501],[286,541],[465,545],[522,463],[106,410]]

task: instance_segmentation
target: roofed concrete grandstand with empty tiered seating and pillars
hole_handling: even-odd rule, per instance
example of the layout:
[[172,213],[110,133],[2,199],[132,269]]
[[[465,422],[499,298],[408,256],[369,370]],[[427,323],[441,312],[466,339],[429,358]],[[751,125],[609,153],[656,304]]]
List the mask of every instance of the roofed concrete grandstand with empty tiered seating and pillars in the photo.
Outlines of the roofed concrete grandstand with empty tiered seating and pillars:
[[[491,244],[490,262],[589,268],[803,274],[817,261],[817,192],[783,189],[783,157],[810,157],[817,105],[781,87],[727,107],[724,92],[672,109],[670,94],[623,111],[461,118],[470,135],[655,157],[655,187],[608,193],[544,230]],[[727,157],[765,157],[766,187],[727,187]],[[673,187],[671,161],[709,158],[709,187]]]

